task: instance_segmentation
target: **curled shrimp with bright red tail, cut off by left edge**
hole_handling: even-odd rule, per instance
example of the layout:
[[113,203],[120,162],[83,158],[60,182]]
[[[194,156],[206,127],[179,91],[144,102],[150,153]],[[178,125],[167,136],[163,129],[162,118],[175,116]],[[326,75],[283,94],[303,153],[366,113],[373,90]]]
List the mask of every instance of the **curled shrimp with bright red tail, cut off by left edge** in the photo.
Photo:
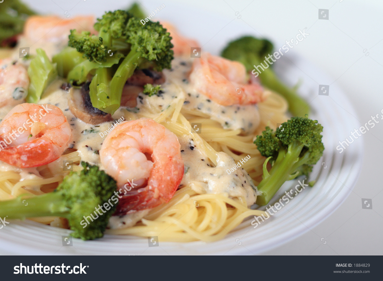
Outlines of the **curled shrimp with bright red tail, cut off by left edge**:
[[0,123],[0,160],[20,168],[59,158],[72,140],[61,109],[54,105],[16,105]]

